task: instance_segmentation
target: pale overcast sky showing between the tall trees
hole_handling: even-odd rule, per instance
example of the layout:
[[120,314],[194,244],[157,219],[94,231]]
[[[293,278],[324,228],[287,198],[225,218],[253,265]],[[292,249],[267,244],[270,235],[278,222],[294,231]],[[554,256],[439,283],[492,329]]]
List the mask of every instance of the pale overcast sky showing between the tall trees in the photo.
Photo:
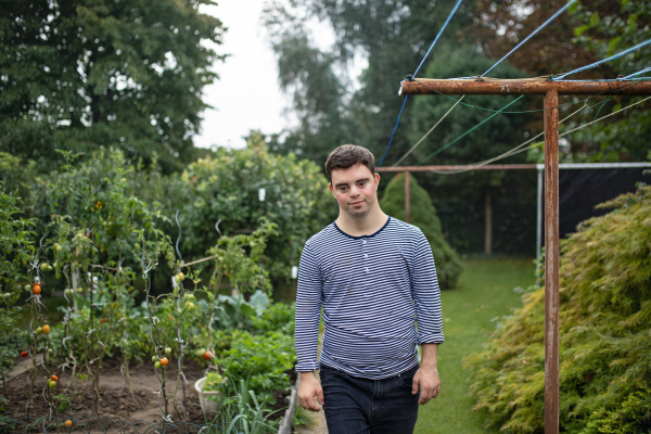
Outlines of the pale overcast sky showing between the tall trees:
[[[228,27],[224,44],[216,50],[231,56],[215,63],[219,79],[204,88],[204,101],[215,108],[203,113],[202,132],[194,137],[196,146],[242,148],[242,137],[251,129],[280,132],[293,124],[283,115],[291,101],[280,91],[277,60],[260,23],[264,4],[264,0],[219,0],[218,7],[201,9]],[[330,46],[334,37],[329,27],[315,26],[318,46]]]

